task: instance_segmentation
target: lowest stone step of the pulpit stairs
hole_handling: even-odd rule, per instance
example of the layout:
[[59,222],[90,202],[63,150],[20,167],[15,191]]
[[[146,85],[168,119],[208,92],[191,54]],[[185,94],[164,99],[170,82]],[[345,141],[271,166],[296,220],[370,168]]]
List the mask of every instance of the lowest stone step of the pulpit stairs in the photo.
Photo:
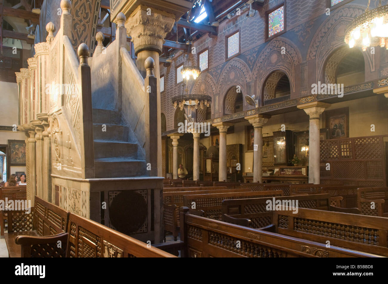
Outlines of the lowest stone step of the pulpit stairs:
[[134,160],[127,157],[94,159],[95,177],[135,177],[146,176],[144,160]]

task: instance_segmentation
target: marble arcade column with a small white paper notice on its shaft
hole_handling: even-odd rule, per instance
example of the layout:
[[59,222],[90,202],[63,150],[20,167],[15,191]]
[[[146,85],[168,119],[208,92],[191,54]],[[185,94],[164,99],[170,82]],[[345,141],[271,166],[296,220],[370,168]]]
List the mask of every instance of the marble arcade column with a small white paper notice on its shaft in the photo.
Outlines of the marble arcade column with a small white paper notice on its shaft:
[[254,129],[253,182],[263,182],[263,125],[267,123],[269,118],[270,116],[267,115],[245,117]]

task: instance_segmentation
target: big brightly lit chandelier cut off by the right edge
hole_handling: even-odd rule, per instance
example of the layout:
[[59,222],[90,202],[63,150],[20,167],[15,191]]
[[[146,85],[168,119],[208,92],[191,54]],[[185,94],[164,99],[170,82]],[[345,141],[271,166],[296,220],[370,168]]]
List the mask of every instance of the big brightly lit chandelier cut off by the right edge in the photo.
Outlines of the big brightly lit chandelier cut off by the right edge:
[[357,46],[365,51],[369,46],[381,46],[388,49],[388,5],[381,6],[381,0],[376,9],[369,10],[353,19],[345,29],[345,43],[350,48]]

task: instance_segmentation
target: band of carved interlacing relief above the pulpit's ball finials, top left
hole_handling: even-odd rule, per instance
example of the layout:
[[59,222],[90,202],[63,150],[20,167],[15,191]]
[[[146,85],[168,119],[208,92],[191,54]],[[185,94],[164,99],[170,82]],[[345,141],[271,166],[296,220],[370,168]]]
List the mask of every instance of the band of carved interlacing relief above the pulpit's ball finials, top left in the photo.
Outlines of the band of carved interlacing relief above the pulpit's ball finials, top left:
[[73,1],[71,7],[73,17],[71,45],[73,45],[75,52],[77,52],[77,48],[81,43],[86,43],[90,54],[93,54],[100,5],[101,0]]

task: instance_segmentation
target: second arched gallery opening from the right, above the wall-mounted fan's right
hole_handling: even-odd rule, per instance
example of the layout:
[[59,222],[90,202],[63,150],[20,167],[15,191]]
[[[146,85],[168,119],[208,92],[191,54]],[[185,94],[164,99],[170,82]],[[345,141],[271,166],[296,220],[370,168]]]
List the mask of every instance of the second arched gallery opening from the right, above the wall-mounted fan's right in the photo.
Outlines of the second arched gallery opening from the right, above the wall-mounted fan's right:
[[263,104],[282,102],[288,100],[291,94],[290,81],[282,71],[272,72],[265,80],[263,88]]

